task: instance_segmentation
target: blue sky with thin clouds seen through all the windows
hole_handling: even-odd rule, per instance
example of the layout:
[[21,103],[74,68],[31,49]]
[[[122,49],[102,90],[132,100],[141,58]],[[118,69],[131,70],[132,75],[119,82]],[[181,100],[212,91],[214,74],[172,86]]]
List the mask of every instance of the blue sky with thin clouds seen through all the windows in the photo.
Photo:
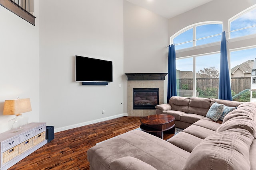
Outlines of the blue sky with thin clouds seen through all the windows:
[[[256,25],[256,9],[251,10],[236,18],[234,21],[231,22],[231,31]],[[221,34],[222,33],[222,24],[207,24],[207,25],[200,25],[196,27],[196,39],[202,37],[208,37],[211,35]],[[244,35],[250,35],[256,33],[256,27],[250,27],[247,29],[243,29],[240,31],[234,31],[230,33],[231,38],[234,37],[241,37]],[[227,37],[226,37],[227,38]],[[192,28],[185,31],[184,33],[178,35],[174,38],[175,49],[183,49],[187,47],[192,47],[193,43],[185,43],[178,45],[179,43],[191,41],[193,39],[193,30]],[[209,37],[203,40],[196,41],[196,45],[202,45],[212,42],[217,42],[221,40],[221,35],[217,35],[214,37]],[[232,51],[230,52],[230,68],[233,68],[236,65],[242,64],[248,60],[254,60],[256,58],[256,47],[251,49],[244,49],[240,51]],[[215,67],[217,70],[220,68],[220,53],[218,54],[211,54],[196,57],[196,72],[200,69]],[[177,59],[176,60],[176,69],[180,71],[192,71],[193,70],[193,59],[186,58],[186,59]]]

